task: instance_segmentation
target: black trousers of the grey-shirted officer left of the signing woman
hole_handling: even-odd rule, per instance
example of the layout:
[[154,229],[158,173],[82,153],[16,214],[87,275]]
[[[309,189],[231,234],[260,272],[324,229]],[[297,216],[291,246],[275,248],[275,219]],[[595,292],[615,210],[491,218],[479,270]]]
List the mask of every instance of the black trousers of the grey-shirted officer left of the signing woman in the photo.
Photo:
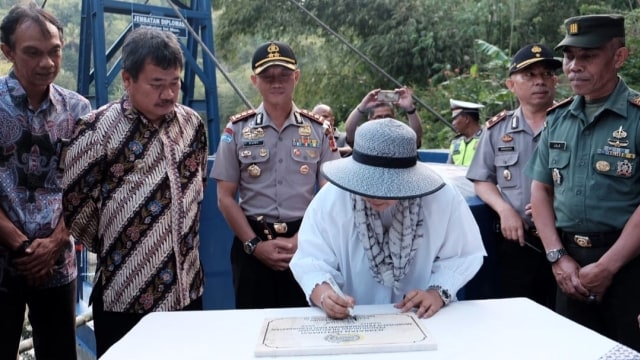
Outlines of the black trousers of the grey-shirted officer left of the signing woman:
[[[284,234],[276,236],[291,237],[298,232],[300,222],[289,225]],[[253,231],[261,236],[264,229],[250,221]],[[273,232],[273,229],[271,229]],[[264,237],[263,240],[266,240]],[[247,255],[242,242],[233,238],[231,245],[231,271],[237,309],[265,309],[281,307],[309,306],[306,296],[296,282],[291,270],[275,271],[265,266],[253,255]]]

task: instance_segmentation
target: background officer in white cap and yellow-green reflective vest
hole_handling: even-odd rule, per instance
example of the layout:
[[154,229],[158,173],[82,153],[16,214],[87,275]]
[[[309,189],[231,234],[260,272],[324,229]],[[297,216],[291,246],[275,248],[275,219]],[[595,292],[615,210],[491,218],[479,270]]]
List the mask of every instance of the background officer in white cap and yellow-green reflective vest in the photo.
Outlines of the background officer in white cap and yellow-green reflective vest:
[[454,99],[449,99],[449,104],[452,113],[451,125],[458,135],[451,141],[447,163],[469,166],[482,134],[480,109],[484,105]]

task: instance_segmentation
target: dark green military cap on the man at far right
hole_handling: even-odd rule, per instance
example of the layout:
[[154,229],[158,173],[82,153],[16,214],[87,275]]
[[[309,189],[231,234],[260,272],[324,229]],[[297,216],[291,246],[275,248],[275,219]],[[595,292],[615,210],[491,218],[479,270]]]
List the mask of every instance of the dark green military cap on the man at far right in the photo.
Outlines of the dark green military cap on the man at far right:
[[594,49],[599,48],[613,38],[624,38],[624,16],[585,15],[568,18],[564,21],[567,35],[555,47],[566,46]]

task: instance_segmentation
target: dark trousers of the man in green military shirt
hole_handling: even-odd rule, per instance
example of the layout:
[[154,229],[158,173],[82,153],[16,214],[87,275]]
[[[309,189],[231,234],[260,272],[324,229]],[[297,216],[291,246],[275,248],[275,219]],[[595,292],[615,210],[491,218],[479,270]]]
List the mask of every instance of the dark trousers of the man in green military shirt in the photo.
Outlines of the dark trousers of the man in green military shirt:
[[[596,262],[609,247],[584,248],[563,241],[567,252],[580,264]],[[615,274],[611,285],[599,304],[588,304],[566,296],[558,290],[558,313],[598,333],[640,351],[640,256],[623,266]]]

